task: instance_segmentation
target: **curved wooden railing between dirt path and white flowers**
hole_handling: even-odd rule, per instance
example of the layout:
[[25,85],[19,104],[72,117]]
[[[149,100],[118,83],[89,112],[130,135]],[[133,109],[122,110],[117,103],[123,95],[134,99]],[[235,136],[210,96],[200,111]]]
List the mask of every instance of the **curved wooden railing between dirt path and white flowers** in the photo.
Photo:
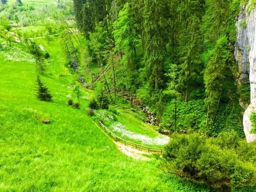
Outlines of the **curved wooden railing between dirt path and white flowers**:
[[108,131],[109,135],[112,136],[112,137],[114,137],[114,138],[116,139],[116,141],[117,141],[117,139],[124,141],[124,142],[125,142],[125,145],[126,145],[126,144],[130,144],[130,145],[132,145],[132,146],[135,146],[136,149],[137,149],[137,148],[142,148],[142,149],[148,150],[148,152],[149,152],[149,151],[157,151],[157,152],[160,152],[160,154],[163,153],[163,148],[148,147],[148,146],[140,145],[140,144],[137,144],[137,143],[133,143],[133,142],[128,141],[128,140],[124,140],[124,139],[122,139],[121,137],[118,137],[118,136],[116,136],[115,134],[113,134],[105,125],[103,125],[102,122],[99,122],[99,125],[101,125],[101,126],[104,128],[104,130]]

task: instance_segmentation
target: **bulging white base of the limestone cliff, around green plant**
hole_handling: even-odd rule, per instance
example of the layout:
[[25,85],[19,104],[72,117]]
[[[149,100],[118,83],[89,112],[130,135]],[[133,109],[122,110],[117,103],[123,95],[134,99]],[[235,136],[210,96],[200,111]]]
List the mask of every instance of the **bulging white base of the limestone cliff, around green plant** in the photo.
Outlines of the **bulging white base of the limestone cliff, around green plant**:
[[250,121],[250,114],[253,111],[256,112],[256,99],[253,99],[253,101],[250,103],[247,110],[244,111],[243,124],[244,124],[244,134],[245,134],[247,143],[251,143],[254,140],[256,140],[256,134],[250,134],[250,130],[252,129],[252,126],[251,126],[252,123]]

